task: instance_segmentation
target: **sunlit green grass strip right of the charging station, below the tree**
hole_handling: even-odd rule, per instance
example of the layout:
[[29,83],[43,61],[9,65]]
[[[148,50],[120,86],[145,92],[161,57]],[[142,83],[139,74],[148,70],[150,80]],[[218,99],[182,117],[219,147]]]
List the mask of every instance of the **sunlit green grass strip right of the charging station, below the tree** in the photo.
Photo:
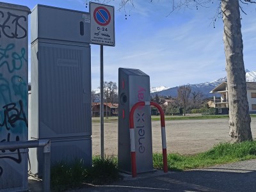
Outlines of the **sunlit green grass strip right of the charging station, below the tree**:
[[[256,158],[256,141],[220,143],[207,152],[193,156],[168,154],[168,169],[182,171],[254,158]],[[154,168],[163,169],[162,154],[154,154],[153,159]]]

